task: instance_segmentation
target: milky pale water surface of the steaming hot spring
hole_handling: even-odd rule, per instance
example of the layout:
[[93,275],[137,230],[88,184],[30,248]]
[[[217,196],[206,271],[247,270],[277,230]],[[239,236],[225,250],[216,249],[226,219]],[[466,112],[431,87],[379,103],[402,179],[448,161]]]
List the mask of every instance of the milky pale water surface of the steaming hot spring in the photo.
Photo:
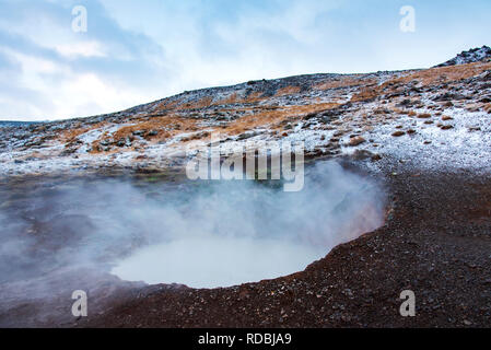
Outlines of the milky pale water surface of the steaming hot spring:
[[268,238],[195,237],[140,249],[113,269],[125,280],[180,282],[217,288],[287,276],[303,270],[325,252]]

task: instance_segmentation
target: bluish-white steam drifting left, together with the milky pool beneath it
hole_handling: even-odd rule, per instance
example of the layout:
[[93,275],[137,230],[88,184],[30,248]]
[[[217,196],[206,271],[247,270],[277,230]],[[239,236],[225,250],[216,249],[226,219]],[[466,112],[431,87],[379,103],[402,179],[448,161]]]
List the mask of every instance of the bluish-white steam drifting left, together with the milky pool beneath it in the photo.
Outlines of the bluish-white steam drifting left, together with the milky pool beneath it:
[[[307,167],[299,192],[105,178],[2,185],[0,198],[0,324],[14,300],[91,289],[108,273],[196,288],[289,275],[384,218],[381,188],[335,162]],[[67,271],[87,269],[96,281],[67,282]]]

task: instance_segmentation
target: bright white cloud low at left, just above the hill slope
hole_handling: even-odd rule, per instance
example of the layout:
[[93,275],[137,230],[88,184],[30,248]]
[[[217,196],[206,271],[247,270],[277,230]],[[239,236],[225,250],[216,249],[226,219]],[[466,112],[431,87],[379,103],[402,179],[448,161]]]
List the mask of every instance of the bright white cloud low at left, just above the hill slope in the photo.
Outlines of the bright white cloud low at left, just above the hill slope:
[[40,108],[30,101],[17,101],[22,105],[12,110],[9,98],[0,98],[0,105],[11,108],[9,116],[30,113],[24,119],[83,117],[127,108],[148,98],[138,89],[115,84],[95,73],[79,73],[67,65],[9,49],[0,51],[21,65],[20,88],[39,94],[47,102]]

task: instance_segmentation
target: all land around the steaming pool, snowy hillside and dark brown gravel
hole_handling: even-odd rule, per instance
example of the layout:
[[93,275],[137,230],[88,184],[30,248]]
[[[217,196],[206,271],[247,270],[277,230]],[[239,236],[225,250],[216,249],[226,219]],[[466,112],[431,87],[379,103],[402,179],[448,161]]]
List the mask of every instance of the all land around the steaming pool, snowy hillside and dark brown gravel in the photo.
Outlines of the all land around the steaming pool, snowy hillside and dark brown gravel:
[[[0,313],[0,324],[491,326],[491,62],[486,47],[469,52],[424,70],[252,81],[112,115],[0,128],[4,186],[179,172],[194,155],[184,150],[220,131],[225,143],[304,141],[307,158],[338,159],[390,196],[383,228],[293,276],[192,290],[96,273],[94,295],[103,296],[90,317],[30,317],[32,305],[42,307],[34,301]],[[399,315],[406,289],[417,295],[416,317]]]

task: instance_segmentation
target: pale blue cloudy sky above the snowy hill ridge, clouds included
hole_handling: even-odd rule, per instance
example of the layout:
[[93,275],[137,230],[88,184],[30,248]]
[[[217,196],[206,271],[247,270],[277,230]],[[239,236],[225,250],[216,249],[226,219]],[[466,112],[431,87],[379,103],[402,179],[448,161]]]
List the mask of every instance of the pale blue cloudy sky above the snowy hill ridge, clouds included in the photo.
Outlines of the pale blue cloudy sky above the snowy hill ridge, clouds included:
[[[400,25],[408,5],[413,31]],[[491,46],[490,15],[489,0],[0,0],[0,120],[112,113],[258,79],[431,67]]]

